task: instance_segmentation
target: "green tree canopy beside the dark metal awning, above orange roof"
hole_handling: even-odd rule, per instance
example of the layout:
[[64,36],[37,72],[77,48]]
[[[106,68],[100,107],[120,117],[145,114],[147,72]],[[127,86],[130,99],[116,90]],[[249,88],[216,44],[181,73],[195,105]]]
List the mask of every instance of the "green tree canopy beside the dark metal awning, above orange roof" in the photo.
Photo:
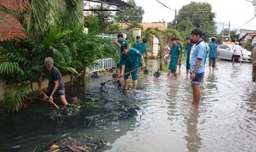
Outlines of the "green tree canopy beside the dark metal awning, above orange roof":
[[142,22],[145,13],[142,6],[136,6],[134,0],[128,0],[127,3],[134,7],[123,7],[123,12],[115,13],[114,20],[116,22]]

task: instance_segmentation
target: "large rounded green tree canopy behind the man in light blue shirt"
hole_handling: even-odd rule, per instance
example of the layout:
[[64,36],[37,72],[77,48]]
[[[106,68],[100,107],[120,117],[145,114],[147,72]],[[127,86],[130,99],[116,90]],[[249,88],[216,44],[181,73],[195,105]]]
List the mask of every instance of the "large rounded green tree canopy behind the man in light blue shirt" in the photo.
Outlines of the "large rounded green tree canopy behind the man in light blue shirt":
[[212,6],[208,2],[190,2],[190,4],[182,6],[178,11],[177,28],[179,31],[187,29],[186,23],[192,23],[192,27],[201,28],[203,36],[206,38],[216,34],[216,26],[214,22],[216,14],[212,12]]

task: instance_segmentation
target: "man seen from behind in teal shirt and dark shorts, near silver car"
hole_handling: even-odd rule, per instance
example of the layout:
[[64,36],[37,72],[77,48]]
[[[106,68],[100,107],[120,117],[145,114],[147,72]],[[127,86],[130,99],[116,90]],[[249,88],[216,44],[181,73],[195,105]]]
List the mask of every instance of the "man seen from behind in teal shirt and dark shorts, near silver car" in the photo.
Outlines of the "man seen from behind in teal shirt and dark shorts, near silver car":
[[214,67],[216,63],[216,58],[217,58],[217,51],[218,51],[218,45],[215,43],[215,38],[210,39],[210,44],[209,46],[209,70],[211,71],[211,67],[213,67],[213,72],[214,72]]

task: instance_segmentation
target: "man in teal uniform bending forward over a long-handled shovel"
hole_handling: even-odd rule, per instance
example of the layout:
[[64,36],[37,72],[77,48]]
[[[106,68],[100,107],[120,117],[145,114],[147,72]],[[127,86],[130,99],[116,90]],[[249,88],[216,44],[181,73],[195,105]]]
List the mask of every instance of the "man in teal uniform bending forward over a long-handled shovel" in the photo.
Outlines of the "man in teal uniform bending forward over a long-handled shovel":
[[[138,58],[141,58],[142,60],[142,67],[145,67],[145,62],[142,54],[134,49],[134,48],[128,48],[126,44],[123,44],[121,46],[121,60],[120,64],[122,65],[122,72],[121,75],[130,72],[131,70],[137,69],[138,68]],[[128,78],[130,74],[124,75],[125,79],[125,90],[128,90]],[[133,78],[133,86],[134,86],[134,91],[137,88],[137,78],[138,78],[138,70],[135,70],[134,72],[131,73],[131,77]]]

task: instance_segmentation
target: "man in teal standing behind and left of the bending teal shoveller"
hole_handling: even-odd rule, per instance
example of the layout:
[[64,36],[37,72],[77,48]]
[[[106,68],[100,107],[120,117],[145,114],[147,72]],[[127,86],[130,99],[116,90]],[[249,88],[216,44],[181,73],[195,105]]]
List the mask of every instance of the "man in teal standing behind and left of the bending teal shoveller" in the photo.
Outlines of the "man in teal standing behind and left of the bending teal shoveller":
[[[116,41],[115,39],[114,39],[114,44],[117,46],[117,48],[118,48],[118,52],[117,52],[117,54],[118,54],[118,56],[120,57],[120,55],[121,55],[121,45],[122,44],[126,44],[126,46],[129,48],[130,46],[129,46],[129,44],[128,44],[128,42],[126,41],[126,39],[125,38],[123,38],[123,34],[118,34],[118,41]],[[116,70],[116,74],[118,74],[118,73],[120,73],[121,72],[121,70],[120,70],[120,68],[121,68],[121,65],[120,65],[120,58],[118,59],[118,63],[117,63],[117,70]]]

